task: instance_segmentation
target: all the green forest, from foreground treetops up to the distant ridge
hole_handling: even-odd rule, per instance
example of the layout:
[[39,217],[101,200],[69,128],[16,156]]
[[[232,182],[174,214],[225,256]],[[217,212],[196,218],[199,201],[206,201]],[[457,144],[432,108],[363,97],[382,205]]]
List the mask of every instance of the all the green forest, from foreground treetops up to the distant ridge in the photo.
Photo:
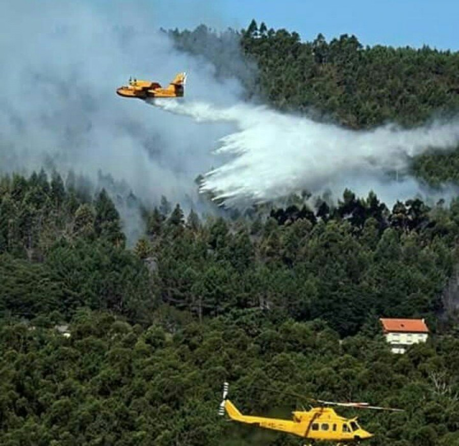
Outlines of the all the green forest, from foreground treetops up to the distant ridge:
[[[364,128],[458,105],[457,54],[300,42],[255,23],[230,33],[251,61],[247,95],[282,110]],[[213,38],[203,55],[220,52],[206,28],[172,34],[189,50]],[[217,75],[241,72],[220,61]],[[428,156],[417,168],[442,181]],[[205,217],[163,197],[140,209],[130,249],[106,190],[71,172],[2,176],[0,444],[299,444],[218,417],[223,381],[244,412],[290,417],[302,404],[256,387],[368,401],[405,409],[338,411],[361,417],[369,445],[459,444],[459,198],[388,208],[346,190],[336,206],[287,203]],[[393,355],[381,316],[426,318],[432,335]]]

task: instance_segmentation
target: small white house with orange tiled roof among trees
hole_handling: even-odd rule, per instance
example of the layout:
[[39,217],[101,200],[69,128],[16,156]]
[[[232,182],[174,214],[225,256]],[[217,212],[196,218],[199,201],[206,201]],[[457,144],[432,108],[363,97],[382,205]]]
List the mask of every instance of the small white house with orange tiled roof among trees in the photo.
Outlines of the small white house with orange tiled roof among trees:
[[412,344],[426,342],[429,329],[424,319],[379,319],[392,353],[405,353]]

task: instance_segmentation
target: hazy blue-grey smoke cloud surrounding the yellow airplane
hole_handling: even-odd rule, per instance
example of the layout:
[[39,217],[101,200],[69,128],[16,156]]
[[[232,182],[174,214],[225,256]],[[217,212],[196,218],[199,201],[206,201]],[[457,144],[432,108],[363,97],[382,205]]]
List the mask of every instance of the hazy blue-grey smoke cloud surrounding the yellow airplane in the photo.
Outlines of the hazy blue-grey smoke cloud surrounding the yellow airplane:
[[[65,180],[72,169],[99,186],[102,172],[148,204],[162,195],[182,204],[197,200],[194,180],[218,165],[211,149],[228,125],[198,125],[115,93],[130,76],[167,85],[186,70],[187,96],[237,100],[237,82],[217,82],[213,65],[176,51],[159,32],[167,14],[198,13],[191,4],[169,7],[155,0],[2,5],[0,172],[49,167]],[[133,220],[124,223],[129,230]]]

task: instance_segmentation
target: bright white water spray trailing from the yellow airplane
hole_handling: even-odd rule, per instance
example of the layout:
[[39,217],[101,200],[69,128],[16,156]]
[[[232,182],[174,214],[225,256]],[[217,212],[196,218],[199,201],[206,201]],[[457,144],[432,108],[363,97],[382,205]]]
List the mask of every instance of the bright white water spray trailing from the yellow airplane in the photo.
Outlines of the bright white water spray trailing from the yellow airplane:
[[154,104],[199,122],[236,125],[216,149],[234,156],[208,172],[201,185],[201,191],[228,204],[269,201],[300,190],[338,195],[346,187],[362,194],[373,190],[390,201],[406,199],[421,193],[421,185],[413,178],[391,182],[387,172],[405,169],[413,156],[429,148],[446,150],[459,143],[459,121],[354,131],[250,104],[226,108],[206,102]]

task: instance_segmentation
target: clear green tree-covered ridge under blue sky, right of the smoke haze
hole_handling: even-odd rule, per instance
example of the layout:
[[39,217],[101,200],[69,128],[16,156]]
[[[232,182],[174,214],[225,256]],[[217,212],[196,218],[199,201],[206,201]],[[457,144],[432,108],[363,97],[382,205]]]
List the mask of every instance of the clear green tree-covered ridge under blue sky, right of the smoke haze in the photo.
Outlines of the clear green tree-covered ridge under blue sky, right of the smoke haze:
[[242,45],[260,67],[265,95],[281,109],[313,106],[352,127],[387,121],[417,124],[432,113],[459,108],[459,53],[374,46],[355,36],[329,42],[319,34],[301,42],[297,33],[243,32]]

